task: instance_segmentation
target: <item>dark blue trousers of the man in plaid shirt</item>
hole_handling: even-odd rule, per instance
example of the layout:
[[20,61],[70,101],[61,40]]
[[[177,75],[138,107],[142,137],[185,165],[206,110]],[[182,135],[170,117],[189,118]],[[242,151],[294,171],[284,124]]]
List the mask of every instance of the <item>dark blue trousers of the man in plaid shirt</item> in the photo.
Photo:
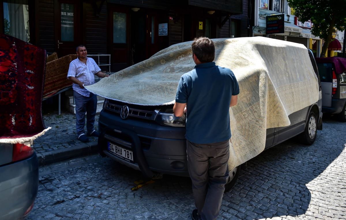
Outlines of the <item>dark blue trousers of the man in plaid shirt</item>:
[[90,93],[90,97],[73,91],[74,101],[76,104],[76,131],[77,136],[84,133],[85,112],[86,112],[86,131],[90,134],[94,130],[95,114],[97,108],[97,97]]

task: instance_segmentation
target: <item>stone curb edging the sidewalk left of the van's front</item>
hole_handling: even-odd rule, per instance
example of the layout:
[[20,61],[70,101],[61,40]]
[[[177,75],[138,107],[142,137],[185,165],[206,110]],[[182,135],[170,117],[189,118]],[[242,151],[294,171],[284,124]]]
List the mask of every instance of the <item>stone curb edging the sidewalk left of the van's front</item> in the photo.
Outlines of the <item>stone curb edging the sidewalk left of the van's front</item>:
[[88,143],[80,143],[78,146],[51,150],[44,153],[37,153],[39,166],[47,166],[50,164],[67,161],[69,159],[89,156],[98,153],[97,140]]

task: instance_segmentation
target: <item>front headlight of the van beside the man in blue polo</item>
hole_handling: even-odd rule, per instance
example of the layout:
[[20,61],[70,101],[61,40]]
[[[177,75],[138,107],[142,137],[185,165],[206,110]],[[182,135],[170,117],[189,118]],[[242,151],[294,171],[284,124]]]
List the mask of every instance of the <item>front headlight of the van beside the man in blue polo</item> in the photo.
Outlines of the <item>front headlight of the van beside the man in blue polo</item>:
[[182,117],[176,117],[173,109],[160,110],[155,121],[164,126],[185,127],[186,115],[183,114]]

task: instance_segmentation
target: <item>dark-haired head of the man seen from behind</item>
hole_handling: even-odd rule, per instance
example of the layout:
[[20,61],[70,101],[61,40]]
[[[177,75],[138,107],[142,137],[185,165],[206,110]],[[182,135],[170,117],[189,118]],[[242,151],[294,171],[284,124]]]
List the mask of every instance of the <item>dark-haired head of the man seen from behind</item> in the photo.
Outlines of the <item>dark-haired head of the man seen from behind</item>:
[[214,42],[208,37],[198,37],[193,39],[191,45],[192,53],[201,63],[213,62],[215,58]]

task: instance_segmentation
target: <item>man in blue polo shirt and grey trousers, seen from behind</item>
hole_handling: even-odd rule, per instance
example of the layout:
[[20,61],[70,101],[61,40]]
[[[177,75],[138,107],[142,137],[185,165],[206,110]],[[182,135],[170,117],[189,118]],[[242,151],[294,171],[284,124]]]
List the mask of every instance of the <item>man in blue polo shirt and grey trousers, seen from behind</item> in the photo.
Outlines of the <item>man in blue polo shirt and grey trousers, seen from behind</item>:
[[[196,208],[192,219],[218,217],[228,179],[229,108],[237,104],[239,86],[233,72],[212,62],[215,46],[207,37],[192,43],[196,66],[181,76],[173,107],[186,112],[186,152]],[[186,107],[186,109],[185,109]]]

